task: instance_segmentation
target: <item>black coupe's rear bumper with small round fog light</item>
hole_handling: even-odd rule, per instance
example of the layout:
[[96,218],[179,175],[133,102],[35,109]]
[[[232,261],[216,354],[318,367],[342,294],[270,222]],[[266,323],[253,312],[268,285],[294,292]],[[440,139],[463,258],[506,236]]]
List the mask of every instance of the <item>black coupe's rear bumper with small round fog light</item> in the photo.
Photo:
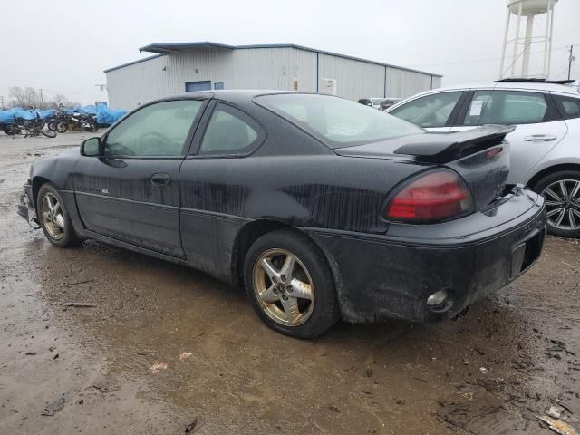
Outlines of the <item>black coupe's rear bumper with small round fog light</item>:
[[[429,322],[459,314],[526,272],[545,234],[544,199],[519,189],[486,214],[445,224],[390,228],[386,236],[317,230],[311,237],[333,267],[344,320]],[[439,290],[447,301],[430,307],[427,298]]]

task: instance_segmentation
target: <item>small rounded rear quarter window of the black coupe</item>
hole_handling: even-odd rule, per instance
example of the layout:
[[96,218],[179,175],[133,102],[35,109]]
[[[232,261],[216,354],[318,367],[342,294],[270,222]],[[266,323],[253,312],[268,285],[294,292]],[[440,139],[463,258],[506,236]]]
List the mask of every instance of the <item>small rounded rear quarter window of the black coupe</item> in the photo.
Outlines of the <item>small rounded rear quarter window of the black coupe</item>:
[[260,129],[243,111],[218,103],[201,140],[201,154],[245,154],[259,144]]

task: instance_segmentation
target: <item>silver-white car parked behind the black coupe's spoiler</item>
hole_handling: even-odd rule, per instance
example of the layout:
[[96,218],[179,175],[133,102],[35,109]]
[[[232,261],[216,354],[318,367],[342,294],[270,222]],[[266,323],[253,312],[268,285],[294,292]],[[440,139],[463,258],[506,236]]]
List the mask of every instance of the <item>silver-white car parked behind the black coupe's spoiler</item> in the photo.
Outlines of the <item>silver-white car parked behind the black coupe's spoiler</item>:
[[501,81],[423,92],[386,112],[430,131],[517,125],[508,184],[546,197],[548,230],[580,237],[580,93],[563,82]]

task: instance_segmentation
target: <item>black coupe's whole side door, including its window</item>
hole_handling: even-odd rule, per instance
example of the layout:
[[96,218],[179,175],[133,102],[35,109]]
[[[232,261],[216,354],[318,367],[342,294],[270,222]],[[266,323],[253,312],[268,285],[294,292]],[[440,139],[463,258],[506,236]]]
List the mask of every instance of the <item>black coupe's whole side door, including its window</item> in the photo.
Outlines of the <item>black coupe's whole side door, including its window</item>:
[[102,138],[100,157],[82,157],[74,176],[84,225],[103,236],[183,257],[179,169],[205,102],[155,102]]

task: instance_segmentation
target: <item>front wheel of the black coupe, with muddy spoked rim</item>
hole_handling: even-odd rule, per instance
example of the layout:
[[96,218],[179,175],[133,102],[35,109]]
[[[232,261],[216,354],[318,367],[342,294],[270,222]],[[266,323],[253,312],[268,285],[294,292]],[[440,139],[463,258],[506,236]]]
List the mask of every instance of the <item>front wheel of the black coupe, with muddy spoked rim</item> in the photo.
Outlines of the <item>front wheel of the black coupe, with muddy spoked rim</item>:
[[44,236],[54,246],[74,247],[81,243],[74,232],[73,222],[64,206],[63,198],[51,183],[43,184],[38,190],[36,216],[43,227]]

